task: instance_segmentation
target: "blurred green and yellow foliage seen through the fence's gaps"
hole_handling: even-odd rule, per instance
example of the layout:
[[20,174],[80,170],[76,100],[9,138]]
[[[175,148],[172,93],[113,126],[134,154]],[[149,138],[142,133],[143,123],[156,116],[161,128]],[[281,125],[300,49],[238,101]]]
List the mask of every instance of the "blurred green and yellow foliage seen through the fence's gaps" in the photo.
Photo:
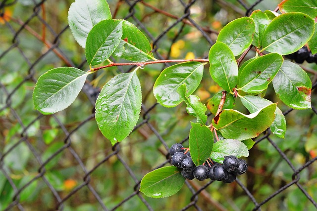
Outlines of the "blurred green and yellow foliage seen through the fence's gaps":
[[[36,2],[40,2],[40,0]],[[55,39],[54,33],[61,32],[67,26],[67,10],[71,2],[71,0],[45,1],[46,21],[49,25],[46,27],[46,42],[52,43]],[[122,1],[120,1],[121,4],[117,4],[117,0],[108,0],[108,2],[112,12],[116,11],[115,8],[119,5],[115,18],[124,18],[129,14],[130,7],[128,4]],[[255,0],[245,0],[245,2],[250,5]],[[263,0],[254,9],[273,10],[278,2],[278,0]],[[178,0],[147,0],[146,3],[178,17],[184,15],[184,7]],[[12,15],[12,18],[7,21],[14,31],[20,28],[20,21],[26,21],[33,14],[33,7],[34,2],[31,0],[20,0],[10,7],[5,7],[5,12]],[[197,23],[216,31],[219,31],[229,21],[244,16],[245,13],[245,9],[236,0],[197,1],[190,9],[191,17]],[[42,11],[39,12],[39,16],[43,17]],[[154,38],[157,38],[164,29],[175,22],[175,19],[159,12],[153,12],[153,9],[142,3],[137,3],[134,7],[134,17],[144,24]],[[128,20],[136,24],[133,18]],[[29,76],[30,71],[35,71],[34,78],[37,79],[54,67],[66,66],[66,61],[68,61],[68,59],[61,59],[53,51],[49,51],[38,60],[43,53],[49,50],[48,45],[35,36],[35,34],[40,38],[43,36],[43,24],[39,18],[33,18],[27,26],[30,29],[24,28],[17,37],[18,47],[10,49],[8,53],[0,58],[1,84],[4,85],[8,93],[17,88],[9,101],[6,101],[6,91],[0,88],[0,109],[10,103],[11,108],[14,109],[25,126],[39,115],[33,109],[32,92],[35,83],[30,79],[20,86],[18,85]],[[177,24],[156,43],[158,52],[164,57],[170,54],[171,58],[185,58],[188,52],[192,52],[196,58],[208,55],[210,44],[203,39],[202,34],[197,29],[189,25],[184,26],[179,37],[174,41],[181,27],[182,23]],[[5,24],[0,23],[0,30],[1,54],[12,45],[14,34]],[[211,34],[211,38],[215,40],[215,35]],[[75,66],[80,66],[85,59],[84,50],[75,42],[69,29],[66,29],[61,34],[58,42],[58,47],[65,55],[64,57],[69,58],[68,62]],[[30,70],[30,64],[28,64],[24,56],[28,58],[30,64],[35,64],[33,70]],[[305,65],[317,70],[316,65]],[[122,67],[123,70],[128,68]],[[88,70],[89,67],[84,63],[81,69]],[[142,85],[143,103],[146,108],[156,102],[152,88],[162,69],[162,64],[146,66],[138,74]],[[88,79],[94,87],[102,87],[103,84],[106,84],[110,78],[118,73],[119,70],[117,68],[109,68],[99,71],[94,76],[89,76]],[[316,81],[316,74],[310,74],[310,77],[313,81]],[[219,87],[212,82],[208,67],[206,67],[203,82],[195,94],[204,103],[207,103],[219,90]],[[289,108],[280,102],[272,94],[271,90],[270,84],[265,97],[272,102],[278,102],[278,106],[282,111],[288,110]],[[316,91],[312,93],[312,96],[315,95]],[[317,104],[316,97],[312,97],[312,104]],[[93,107],[87,96],[81,92],[70,107],[58,112],[55,116],[67,130],[72,130],[91,115]],[[156,127],[168,146],[182,141],[189,134],[189,121],[194,121],[194,119],[187,115],[185,107],[184,103],[175,108],[164,108],[157,105],[149,113],[150,123]],[[241,102],[236,102],[236,108],[247,114],[247,110],[242,106]],[[23,128],[19,124],[14,111],[10,108],[1,109],[0,111],[1,155],[6,153],[10,147],[22,138],[20,133]],[[143,113],[141,112],[142,115]],[[209,121],[211,121],[211,118],[212,115],[209,117]],[[280,139],[273,135],[270,137],[291,160],[292,165],[295,168],[299,168],[317,154],[317,115],[312,110],[292,111],[286,116],[286,120],[287,132],[285,139]],[[139,122],[141,121],[139,120]],[[45,116],[28,127],[26,138],[36,149],[42,160],[45,161],[64,146],[65,134],[53,116]],[[184,143],[184,146],[188,147],[188,141]],[[71,147],[78,153],[85,167],[89,170],[112,152],[110,142],[105,140],[95,121],[89,121],[71,135]],[[141,179],[147,172],[166,160],[166,150],[158,137],[146,125],[131,133],[120,144],[120,148],[120,158],[127,163],[137,179]],[[267,140],[261,141],[250,151],[247,161],[250,169],[248,173],[241,176],[240,180],[247,186],[258,202],[261,202],[278,188],[292,181],[293,170]],[[2,166],[9,172],[8,176],[17,188],[21,188],[38,175],[39,167],[40,164],[23,141],[14,147],[12,151],[8,152],[4,157]],[[304,189],[315,201],[317,201],[316,168],[317,164],[315,163],[300,173],[300,184],[303,185]],[[61,198],[83,183],[85,173],[67,148],[46,164],[45,169],[45,178],[57,190]],[[206,182],[194,181],[194,183],[196,185],[204,185]],[[107,208],[116,206],[132,194],[135,186],[133,178],[116,156],[111,157],[93,171],[90,184],[96,189]],[[254,208],[254,204],[236,183],[223,184],[221,182],[213,182],[204,191],[211,196],[210,198],[205,198],[199,195],[198,205],[204,207],[205,210],[214,209],[210,199],[230,211],[248,211]],[[11,184],[3,172],[0,171],[0,210],[4,210],[12,202],[13,196],[14,190]],[[146,198],[146,200],[155,210],[172,211],[179,210],[189,204],[191,196],[190,190],[184,186],[179,193],[172,197],[164,199]],[[53,193],[42,178],[27,186],[20,193],[19,200],[25,210],[53,210],[56,205]],[[267,211],[313,211],[315,209],[295,185],[262,206],[262,210]],[[101,207],[88,188],[84,187],[64,202],[64,210],[95,211],[101,210]],[[146,207],[139,197],[133,197],[120,206],[118,210],[140,211],[146,210]]]

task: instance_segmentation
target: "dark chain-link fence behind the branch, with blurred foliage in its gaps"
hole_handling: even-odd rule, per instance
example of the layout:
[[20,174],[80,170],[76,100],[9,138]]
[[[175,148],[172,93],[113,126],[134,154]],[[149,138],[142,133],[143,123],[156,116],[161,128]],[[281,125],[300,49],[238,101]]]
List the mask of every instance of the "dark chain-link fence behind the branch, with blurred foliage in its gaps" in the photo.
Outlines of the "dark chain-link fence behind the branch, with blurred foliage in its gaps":
[[[159,59],[189,56],[186,51],[207,58],[217,31],[227,22],[250,15],[254,9],[274,10],[278,3],[108,2],[114,18],[127,19],[146,34]],[[0,2],[0,210],[317,209],[316,66],[305,67],[313,81],[312,110],[295,111],[279,103],[288,123],[286,138],[277,139],[269,130],[259,136],[247,159],[245,175],[232,184],[186,181],[176,195],[151,199],[139,192],[142,177],[169,165],[167,150],[173,143],[188,146],[191,119],[184,107],[163,108],[151,91],[155,78],[168,64],[149,66],[141,73],[139,123],[129,138],[114,147],[98,130],[94,105],[100,87],[129,69],[110,68],[91,76],[65,111],[43,116],[33,109],[32,91],[41,74],[58,66],[89,69],[83,49],[67,25],[70,3]],[[217,89],[212,83],[204,79],[198,90],[205,102]],[[277,100],[269,90],[266,97]]]

